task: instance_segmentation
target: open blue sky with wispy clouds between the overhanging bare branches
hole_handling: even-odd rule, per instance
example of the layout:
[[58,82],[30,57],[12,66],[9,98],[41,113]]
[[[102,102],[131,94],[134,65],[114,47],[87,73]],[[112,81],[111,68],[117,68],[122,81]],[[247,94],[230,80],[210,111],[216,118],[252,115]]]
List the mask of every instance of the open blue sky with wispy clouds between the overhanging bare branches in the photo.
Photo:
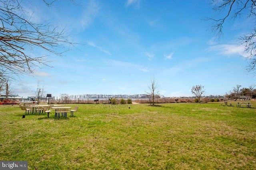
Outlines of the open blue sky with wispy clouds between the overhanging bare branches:
[[[30,2],[30,3],[27,3]],[[65,28],[77,43],[63,57],[50,54],[52,67],[36,68],[12,83],[22,97],[45,94],[144,94],[154,76],[160,94],[192,96],[194,85],[205,95],[224,95],[237,84],[255,84],[238,38],[252,21],[230,20],[220,38],[211,21],[220,18],[210,0],[81,0],[23,1],[35,22]],[[34,50],[30,53],[48,54]]]

